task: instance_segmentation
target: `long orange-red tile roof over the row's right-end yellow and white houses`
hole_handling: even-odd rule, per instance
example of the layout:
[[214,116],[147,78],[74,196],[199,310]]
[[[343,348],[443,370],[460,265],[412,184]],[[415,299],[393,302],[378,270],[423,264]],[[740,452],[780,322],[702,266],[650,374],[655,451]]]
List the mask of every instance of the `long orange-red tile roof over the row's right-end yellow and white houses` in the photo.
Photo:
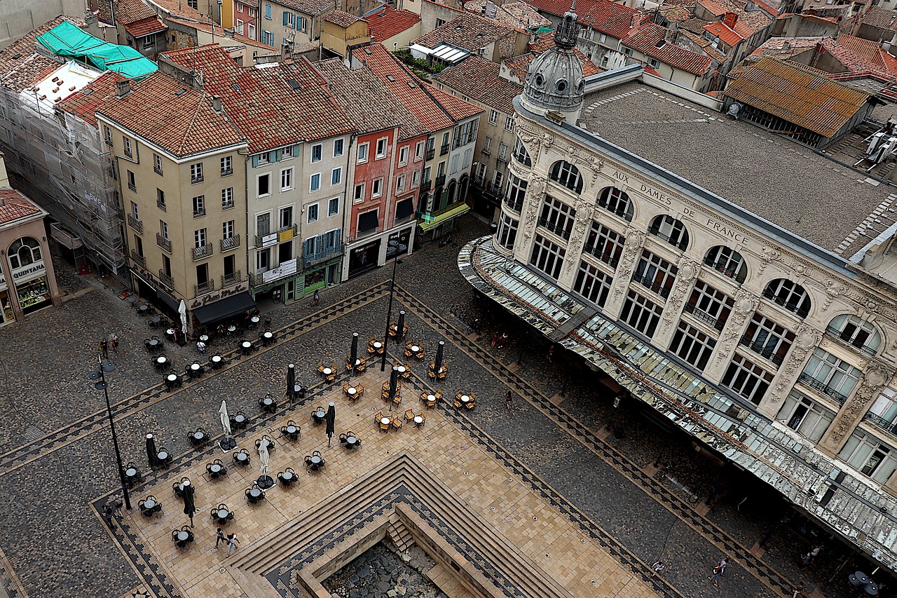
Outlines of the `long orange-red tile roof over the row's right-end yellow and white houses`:
[[405,104],[427,133],[454,127],[458,120],[479,114],[476,106],[423,84],[414,73],[381,44],[353,50],[355,60],[377,75],[389,91]]

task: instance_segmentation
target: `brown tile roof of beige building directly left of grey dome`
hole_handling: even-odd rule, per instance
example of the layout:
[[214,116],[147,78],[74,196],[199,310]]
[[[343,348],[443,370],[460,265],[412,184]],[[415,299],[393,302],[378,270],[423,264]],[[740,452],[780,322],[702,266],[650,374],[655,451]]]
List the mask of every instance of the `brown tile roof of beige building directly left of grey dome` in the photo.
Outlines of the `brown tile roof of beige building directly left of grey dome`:
[[471,100],[482,102],[505,114],[513,114],[514,96],[519,95],[523,87],[502,79],[500,72],[501,65],[492,60],[468,56],[457,65],[443,69],[436,75],[436,81]]

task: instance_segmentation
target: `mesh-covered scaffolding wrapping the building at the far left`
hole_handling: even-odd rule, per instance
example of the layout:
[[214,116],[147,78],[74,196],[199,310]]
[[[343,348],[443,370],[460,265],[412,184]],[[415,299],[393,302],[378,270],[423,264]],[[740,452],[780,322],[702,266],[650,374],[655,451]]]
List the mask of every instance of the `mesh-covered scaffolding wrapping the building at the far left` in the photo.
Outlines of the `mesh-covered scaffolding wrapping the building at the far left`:
[[[52,77],[62,73],[83,87],[101,73],[83,66],[77,66],[83,72],[75,73],[73,62],[55,59],[57,70],[39,81],[26,82],[23,89],[21,84],[9,84],[13,77],[4,78],[0,146],[6,154],[6,167],[17,186],[62,228],[81,239],[95,265],[105,265],[118,274],[125,270],[127,260],[122,208],[110,176],[107,145],[98,128],[59,110],[55,105],[58,98],[47,96],[42,86],[49,81],[58,89],[60,85]],[[65,90],[68,95],[69,87]]]

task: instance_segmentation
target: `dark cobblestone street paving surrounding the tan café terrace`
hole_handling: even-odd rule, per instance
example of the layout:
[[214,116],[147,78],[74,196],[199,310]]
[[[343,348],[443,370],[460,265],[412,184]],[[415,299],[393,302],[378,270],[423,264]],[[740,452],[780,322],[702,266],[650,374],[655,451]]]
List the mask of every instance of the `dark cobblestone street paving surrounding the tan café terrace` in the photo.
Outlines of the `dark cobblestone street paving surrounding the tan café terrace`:
[[[487,233],[473,218],[462,230],[466,237]],[[687,439],[667,438],[637,405],[624,404],[614,413],[611,397],[597,390],[604,387],[595,374],[584,374],[558,353],[549,363],[543,340],[475,301],[457,272],[455,253],[457,247],[432,243],[403,261],[393,318],[405,309],[414,338],[428,347],[447,341],[446,386],[478,392],[471,419],[485,434],[635,558],[663,558],[662,575],[684,595],[785,595],[798,581],[810,590],[819,585],[826,596],[847,595],[840,574],[834,583],[827,581],[842,561],[836,542],[825,542],[817,562],[798,570],[797,557],[812,540],[791,527],[776,527],[786,510],[771,490],[712,464]],[[328,288],[314,308],[304,300],[267,312],[278,342],[251,365],[235,355],[236,338],[214,340],[210,350],[225,356],[227,376],[206,376],[173,394],[161,389],[161,374],[143,347],[155,332],[118,297],[120,287],[62,274],[62,307],[0,329],[0,548],[24,591],[32,598],[114,597],[141,583],[91,508],[91,501],[116,486],[105,402],[87,380],[100,338],[113,331],[121,337],[119,354],[112,356],[118,369],[108,374],[109,398],[124,461],[145,469],[146,432],[171,453],[185,453],[188,431],[219,429],[220,398],[229,400],[231,411],[256,417],[258,397],[283,394],[286,363],[295,363],[299,379],[311,382],[318,361],[343,354],[353,331],[362,339],[381,335],[391,271],[379,268]],[[479,318],[479,334],[465,336],[470,330],[458,316]],[[509,330],[509,347],[490,347],[495,330]],[[166,343],[165,353],[181,371],[200,357],[191,345]],[[503,404],[507,388],[515,396],[510,413]],[[608,423],[624,431],[623,437],[601,432]],[[651,466],[655,461],[672,468],[658,471]],[[706,506],[690,497],[706,497],[711,488],[718,499],[705,514]],[[768,551],[757,558],[750,549],[771,530]],[[723,556],[730,565],[715,588],[707,576]],[[848,567],[854,564],[865,565]],[[11,577],[8,571],[0,575]],[[17,594],[13,588],[11,595]]]

